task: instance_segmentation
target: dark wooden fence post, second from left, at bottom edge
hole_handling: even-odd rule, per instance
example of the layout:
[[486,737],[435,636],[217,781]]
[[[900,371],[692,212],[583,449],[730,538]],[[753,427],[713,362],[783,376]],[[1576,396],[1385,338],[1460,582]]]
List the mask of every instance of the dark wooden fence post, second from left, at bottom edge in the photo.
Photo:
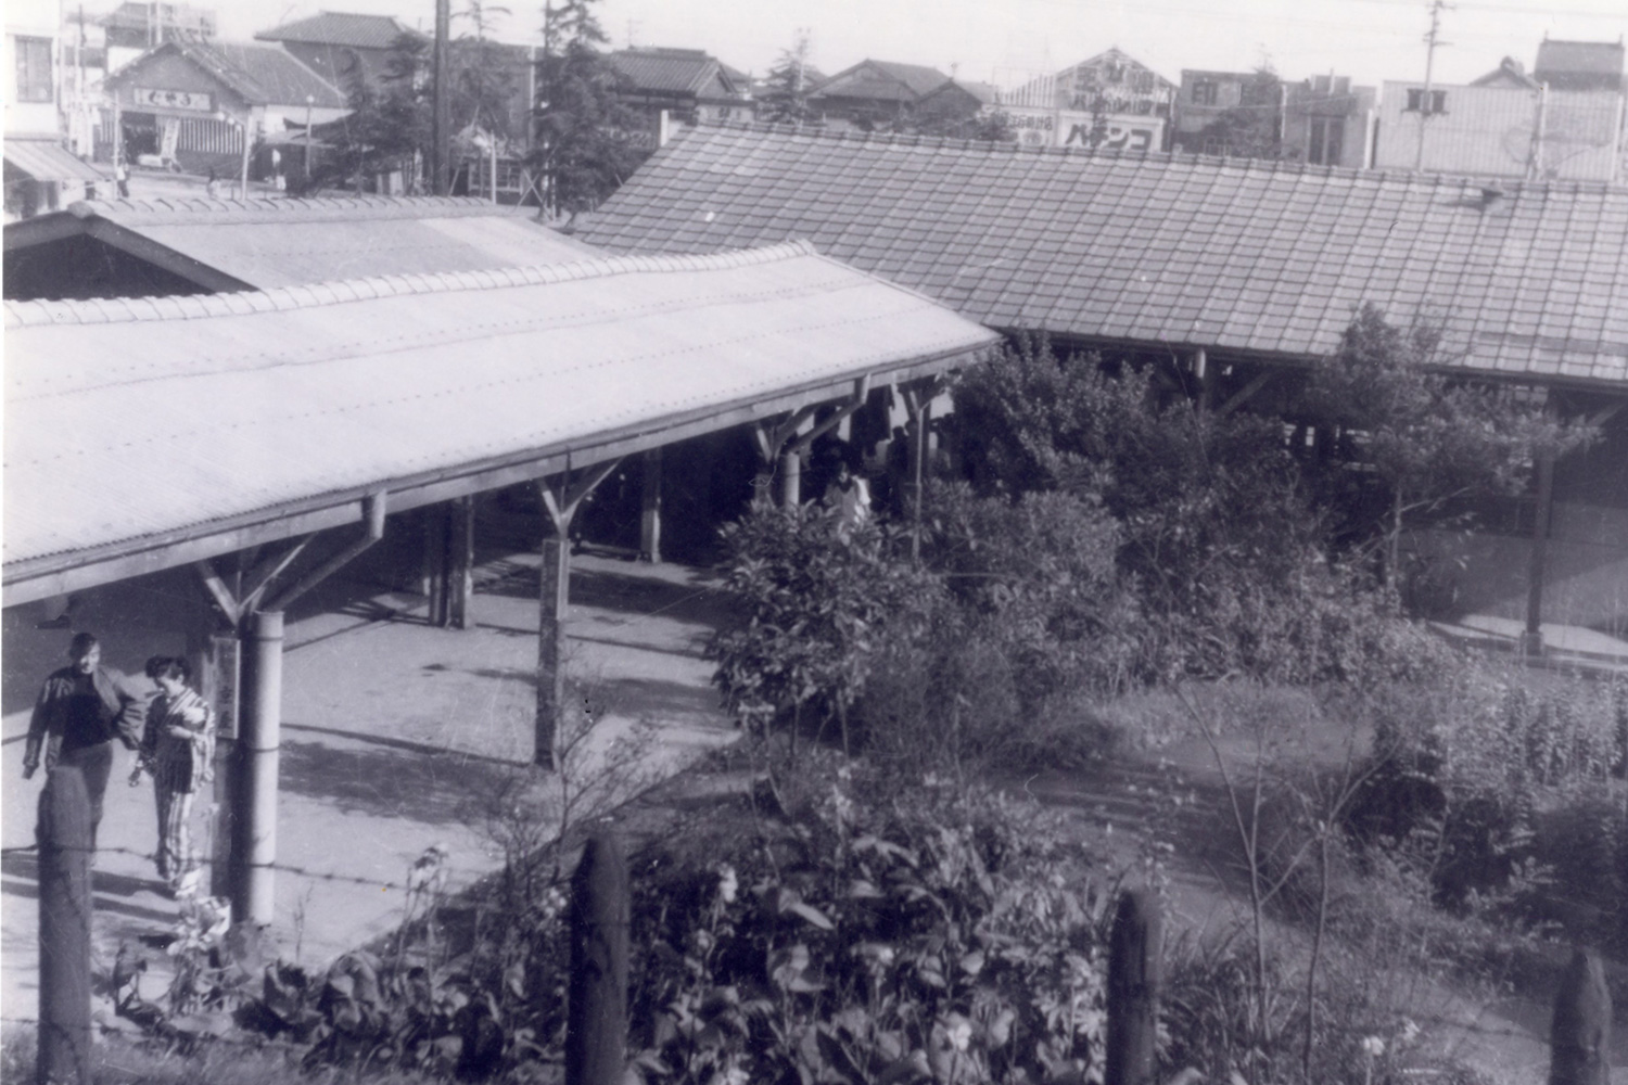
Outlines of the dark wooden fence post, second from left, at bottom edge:
[[594,833],[571,875],[571,986],[565,1080],[620,1085],[627,1052],[627,859],[614,833]]

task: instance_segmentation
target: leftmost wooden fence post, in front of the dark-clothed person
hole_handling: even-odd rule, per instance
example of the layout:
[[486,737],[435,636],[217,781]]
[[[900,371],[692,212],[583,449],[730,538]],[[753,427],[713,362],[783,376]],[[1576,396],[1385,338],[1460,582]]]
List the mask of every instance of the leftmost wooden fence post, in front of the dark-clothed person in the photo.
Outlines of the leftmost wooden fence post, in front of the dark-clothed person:
[[91,800],[78,766],[39,792],[39,1085],[91,1082]]

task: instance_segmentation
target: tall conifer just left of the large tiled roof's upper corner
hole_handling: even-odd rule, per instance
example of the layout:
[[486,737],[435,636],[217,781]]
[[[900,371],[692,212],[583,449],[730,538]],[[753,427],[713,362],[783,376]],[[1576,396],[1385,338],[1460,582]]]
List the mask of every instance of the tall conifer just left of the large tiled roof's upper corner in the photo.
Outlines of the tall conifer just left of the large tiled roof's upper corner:
[[544,7],[532,164],[547,179],[550,203],[570,213],[597,207],[648,155],[641,120],[619,94],[622,76],[599,52],[609,37],[596,2]]

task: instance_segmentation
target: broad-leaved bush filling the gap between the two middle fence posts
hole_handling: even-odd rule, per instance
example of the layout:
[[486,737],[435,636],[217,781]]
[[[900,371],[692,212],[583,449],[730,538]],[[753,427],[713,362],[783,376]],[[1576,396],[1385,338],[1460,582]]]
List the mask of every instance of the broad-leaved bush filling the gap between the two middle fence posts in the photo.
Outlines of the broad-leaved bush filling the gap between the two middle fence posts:
[[632,1020],[651,1082],[1079,1080],[1107,895],[1000,795],[843,768],[708,867],[641,862]]

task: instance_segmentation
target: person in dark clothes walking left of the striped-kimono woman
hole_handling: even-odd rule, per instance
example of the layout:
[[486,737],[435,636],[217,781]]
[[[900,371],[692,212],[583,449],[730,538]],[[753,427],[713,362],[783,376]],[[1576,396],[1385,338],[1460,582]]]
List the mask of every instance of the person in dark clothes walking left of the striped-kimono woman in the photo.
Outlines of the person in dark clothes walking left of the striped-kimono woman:
[[34,701],[23,747],[23,779],[39,768],[77,765],[85,773],[91,800],[91,841],[101,825],[103,795],[112,774],[112,740],[127,748],[140,745],[147,703],[130,693],[127,678],[101,665],[101,644],[90,633],[75,633],[68,665],[54,670]]

